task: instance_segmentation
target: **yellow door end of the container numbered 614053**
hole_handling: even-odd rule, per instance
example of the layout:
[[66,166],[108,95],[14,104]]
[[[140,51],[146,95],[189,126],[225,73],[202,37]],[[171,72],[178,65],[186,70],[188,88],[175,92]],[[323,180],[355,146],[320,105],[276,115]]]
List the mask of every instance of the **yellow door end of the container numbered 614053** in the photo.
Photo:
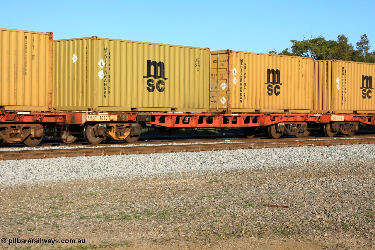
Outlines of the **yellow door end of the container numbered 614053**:
[[228,53],[211,54],[210,110],[228,110]]

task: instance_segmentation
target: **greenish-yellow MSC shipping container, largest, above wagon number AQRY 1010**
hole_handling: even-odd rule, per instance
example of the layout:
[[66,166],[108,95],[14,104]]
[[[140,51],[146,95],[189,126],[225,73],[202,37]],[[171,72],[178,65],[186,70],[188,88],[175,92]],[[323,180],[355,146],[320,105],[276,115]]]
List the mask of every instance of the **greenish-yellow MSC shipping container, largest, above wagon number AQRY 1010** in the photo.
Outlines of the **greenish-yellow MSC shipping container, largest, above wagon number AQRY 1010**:
[[78,38],[54,41],[54,108],[207,111],[209,49]]

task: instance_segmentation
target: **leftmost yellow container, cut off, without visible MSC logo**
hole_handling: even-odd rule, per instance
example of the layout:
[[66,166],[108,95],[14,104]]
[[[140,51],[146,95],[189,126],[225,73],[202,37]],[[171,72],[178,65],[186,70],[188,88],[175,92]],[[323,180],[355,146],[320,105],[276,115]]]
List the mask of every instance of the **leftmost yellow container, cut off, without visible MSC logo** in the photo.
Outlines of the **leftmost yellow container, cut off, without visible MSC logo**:
[[0,110],[52,109],[52,33],[0,28]]

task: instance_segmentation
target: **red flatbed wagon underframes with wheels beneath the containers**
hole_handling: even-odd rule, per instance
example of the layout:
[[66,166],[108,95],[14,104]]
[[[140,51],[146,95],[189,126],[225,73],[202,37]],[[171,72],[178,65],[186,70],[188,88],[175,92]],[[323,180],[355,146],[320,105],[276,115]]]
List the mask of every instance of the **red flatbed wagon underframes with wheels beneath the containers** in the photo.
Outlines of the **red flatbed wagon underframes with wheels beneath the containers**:
[[134,143],[142,127],[243,128],[251,138],[260,131],[278,139],[297,138],[321,130],[327,137],[337,133],[353,136],[361,125],[374,125],[375,114],[269,114],[269,113],[140,113],[140,112],[17,112],[0,111],[0,141],[38,145],[43,137],[66,144],[83,137],[90,144],[107,140]]

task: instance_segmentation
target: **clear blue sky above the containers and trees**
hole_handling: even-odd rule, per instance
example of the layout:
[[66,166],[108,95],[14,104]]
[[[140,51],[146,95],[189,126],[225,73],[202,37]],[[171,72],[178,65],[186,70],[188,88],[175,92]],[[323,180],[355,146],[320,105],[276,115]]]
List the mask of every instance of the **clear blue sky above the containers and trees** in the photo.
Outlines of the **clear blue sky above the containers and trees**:
[[344,34],[375,50],[375,0],[0,0],[0,27],[267,53],[290,40]]

